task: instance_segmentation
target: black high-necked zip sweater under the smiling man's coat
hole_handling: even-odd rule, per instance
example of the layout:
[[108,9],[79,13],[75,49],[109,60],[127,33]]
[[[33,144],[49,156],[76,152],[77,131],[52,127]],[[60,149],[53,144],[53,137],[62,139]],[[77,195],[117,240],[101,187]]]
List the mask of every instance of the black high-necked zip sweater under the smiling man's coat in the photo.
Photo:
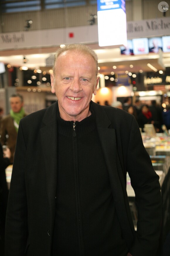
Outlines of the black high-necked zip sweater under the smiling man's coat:
[[127,254],[94,115],[57,117],[57,196],[52,256]]

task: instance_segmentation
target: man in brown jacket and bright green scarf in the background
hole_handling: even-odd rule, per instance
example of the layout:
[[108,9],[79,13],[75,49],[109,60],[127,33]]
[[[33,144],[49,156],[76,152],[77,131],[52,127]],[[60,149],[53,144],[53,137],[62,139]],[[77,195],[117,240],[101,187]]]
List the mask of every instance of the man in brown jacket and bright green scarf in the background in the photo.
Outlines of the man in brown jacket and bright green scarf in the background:
[[10,163],[12,164],[19,122],[21,118],[26,116],[26,113],[23,109],[23,97],[21,94],[12,94],[9,102],[11,106],[10,113],[1,121],[0,142],[2,145],[7,145],[11,150]]

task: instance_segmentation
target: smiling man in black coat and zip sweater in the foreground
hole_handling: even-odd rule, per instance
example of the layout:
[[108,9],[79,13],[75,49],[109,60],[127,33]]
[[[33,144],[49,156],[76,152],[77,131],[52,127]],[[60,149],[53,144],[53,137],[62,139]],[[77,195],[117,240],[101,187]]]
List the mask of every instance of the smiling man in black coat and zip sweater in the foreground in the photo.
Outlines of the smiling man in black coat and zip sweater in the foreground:
[[[59,49],[51,75],[58,101],[20,122],[6,256],[154,256],[157,251],[159,177],[135,118],[91,101],[97,62],[88,46]],[[136,195],[136,234],[127,171]]]

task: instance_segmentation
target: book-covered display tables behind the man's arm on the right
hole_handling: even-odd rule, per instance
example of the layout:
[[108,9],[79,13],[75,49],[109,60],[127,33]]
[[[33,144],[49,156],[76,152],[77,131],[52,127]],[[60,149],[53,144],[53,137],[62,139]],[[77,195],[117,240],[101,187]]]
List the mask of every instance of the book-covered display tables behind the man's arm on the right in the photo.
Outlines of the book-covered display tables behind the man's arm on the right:
[[[149,127],[150,129],[150,127]],[[159,239],[158,255],[166,240],[170,227],[170,135],[167,133],[150,134],[142,133],[142,139],[145,149],[147,150],[152,166],[159,175],[162,196],[162,225]],[[137,229],[137,209],[135,207],[135,193],[130,184],[130,177],[127,174],[127,195],[129,198],[130,211],[135,229]]]

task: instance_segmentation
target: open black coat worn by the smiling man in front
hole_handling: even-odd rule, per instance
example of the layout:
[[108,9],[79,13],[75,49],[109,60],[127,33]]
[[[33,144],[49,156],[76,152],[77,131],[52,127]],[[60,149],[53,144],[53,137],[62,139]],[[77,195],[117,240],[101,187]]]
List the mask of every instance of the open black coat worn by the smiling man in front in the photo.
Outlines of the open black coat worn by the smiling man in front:
[[[159,177],[135,118],[91,102],[106,159],[115,208],[133,256],[155,255],[161,222]],[[21,119],[6,219],[6,256],[50,256],[57,188],[57,102]],[[135,234],[126,172],[138,208]],[[87,186],[88,189],[88,186]]]

